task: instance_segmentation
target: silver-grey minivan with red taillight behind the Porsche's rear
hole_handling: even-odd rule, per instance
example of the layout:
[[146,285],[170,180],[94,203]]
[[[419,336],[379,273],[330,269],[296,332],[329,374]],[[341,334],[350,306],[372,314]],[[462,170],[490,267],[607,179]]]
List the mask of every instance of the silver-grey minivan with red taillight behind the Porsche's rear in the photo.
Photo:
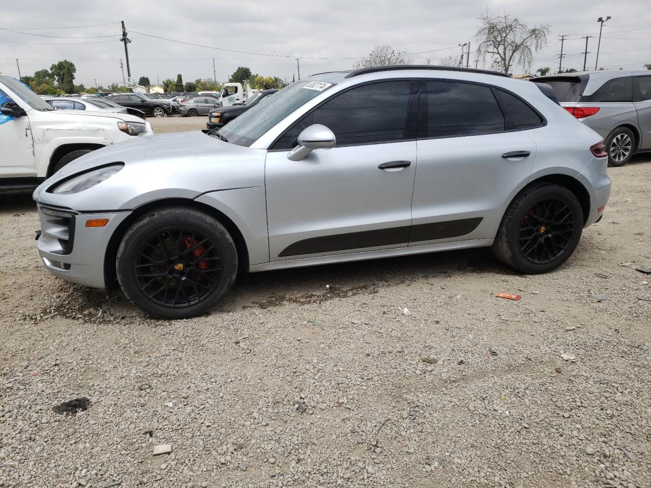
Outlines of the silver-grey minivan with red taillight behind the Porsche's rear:
[[651,150],[651,72],[576,72],[532,81],[551,85],[569,113],[602,135],[609,165]]

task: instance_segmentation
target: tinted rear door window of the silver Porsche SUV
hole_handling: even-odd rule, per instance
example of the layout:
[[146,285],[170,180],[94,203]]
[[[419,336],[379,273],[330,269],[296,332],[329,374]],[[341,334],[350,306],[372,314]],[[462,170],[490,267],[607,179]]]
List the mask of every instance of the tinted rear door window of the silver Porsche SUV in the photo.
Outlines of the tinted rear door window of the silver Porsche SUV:
[[505,129],[505,118],[492,90],[471,83],[426,81],[418,117],[419,138],[473,135]]

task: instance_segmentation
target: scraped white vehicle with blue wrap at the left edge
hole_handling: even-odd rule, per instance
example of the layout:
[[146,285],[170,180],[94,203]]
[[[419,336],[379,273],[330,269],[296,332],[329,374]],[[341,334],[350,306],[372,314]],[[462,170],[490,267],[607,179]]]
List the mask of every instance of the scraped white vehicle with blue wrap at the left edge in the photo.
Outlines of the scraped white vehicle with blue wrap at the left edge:
[[151,124],[133,115],[56,110],[0,74],[0,191],[36,188],[83,154],[150,133]]

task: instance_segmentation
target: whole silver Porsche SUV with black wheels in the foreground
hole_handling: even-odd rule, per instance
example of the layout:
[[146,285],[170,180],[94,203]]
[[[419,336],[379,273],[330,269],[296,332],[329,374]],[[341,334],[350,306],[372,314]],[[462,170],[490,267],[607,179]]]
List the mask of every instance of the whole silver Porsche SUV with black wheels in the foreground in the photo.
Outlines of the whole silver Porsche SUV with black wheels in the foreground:
[[38,250],[55,275],[117,280],[161,318],[205,312],[242,269],[492,246],[521,273],[551,271],[611,181],[602,137],[550,93],[461,68],[313,75],[217,132],[70,163],[34,193]]

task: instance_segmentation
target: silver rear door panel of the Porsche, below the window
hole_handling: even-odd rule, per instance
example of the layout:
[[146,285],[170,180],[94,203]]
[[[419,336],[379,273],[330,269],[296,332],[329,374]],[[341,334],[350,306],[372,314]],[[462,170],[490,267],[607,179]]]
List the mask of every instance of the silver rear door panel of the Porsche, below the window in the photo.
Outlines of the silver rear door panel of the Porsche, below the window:
[[[533,139],[514,131],[417,144],[409,245],[495,237],[506,196],[531,175],[536,159]],[[530,155],[502,157],[511,151]],[[441,227],[432,229],[433,223]]]

